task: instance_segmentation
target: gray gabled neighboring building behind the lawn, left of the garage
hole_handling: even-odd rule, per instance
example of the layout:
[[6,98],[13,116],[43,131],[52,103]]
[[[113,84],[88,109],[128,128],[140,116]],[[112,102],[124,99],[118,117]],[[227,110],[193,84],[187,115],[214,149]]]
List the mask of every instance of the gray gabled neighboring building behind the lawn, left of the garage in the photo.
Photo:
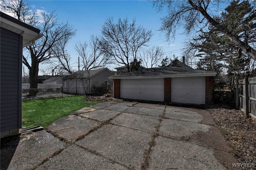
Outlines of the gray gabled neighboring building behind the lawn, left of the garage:
[[63,77],[63,92],[85,94],[93,93],[92,87],[103,87],[113,85],[113,81],[108,77],[114,75],[108,68],[76,71]]

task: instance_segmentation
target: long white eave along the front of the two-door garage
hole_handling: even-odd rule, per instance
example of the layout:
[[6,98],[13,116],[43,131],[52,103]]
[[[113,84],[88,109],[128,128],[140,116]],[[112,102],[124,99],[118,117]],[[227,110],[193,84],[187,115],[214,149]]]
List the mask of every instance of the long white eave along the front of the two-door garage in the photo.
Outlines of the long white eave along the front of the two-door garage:
[[144,75],[144,76],[110,76],[109,79],[157,79],[157,78],[173,78],[173,77],[215,77],[216,73],[184,73],[171,75]]

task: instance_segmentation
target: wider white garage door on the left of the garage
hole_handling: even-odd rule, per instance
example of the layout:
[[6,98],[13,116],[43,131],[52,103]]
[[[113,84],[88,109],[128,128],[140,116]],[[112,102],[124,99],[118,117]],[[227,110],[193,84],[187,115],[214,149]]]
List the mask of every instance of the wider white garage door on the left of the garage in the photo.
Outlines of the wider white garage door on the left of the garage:
[[164,101],[164,79],[121,79],[121,98]]

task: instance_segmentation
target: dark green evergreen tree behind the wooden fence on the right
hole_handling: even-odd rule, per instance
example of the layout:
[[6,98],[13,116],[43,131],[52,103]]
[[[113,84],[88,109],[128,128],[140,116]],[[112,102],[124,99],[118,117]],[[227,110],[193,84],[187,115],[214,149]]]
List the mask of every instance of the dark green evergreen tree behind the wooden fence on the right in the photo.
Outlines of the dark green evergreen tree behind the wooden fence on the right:
[[[254,10],[255,7],[248,1],[232,1],[221,17],[215,20],[239,35],[240,39],[253,43],[256,30]],[[222,74],[226,73],[232,85],[235,79],[243,78],[252,65],[251,57],[213,26],[208,27],[207,32],[201,31],[198,38],[190,43],[190,48],[198,49],[198,69],[217,72],[216,85],[220,85],[218,81],[223,80]]]

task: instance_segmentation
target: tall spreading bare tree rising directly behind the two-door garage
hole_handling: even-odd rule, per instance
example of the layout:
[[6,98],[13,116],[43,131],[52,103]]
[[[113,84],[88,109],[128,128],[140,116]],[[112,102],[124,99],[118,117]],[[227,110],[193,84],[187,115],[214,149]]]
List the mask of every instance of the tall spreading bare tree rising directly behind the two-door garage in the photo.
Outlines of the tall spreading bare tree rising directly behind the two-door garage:
[[[128,19],[114,23],[113,18],[107,18],[102,25],[102,36],[100,37],[100,48],[108,56],[124,64],[128,72],[132,71],[131,61],[135,61],[143,46],[147,46],[152,37],[152,31],[142,26],[137,26],[135,20],[131,24]],[[134,62],[133,62],[134,63]]]

